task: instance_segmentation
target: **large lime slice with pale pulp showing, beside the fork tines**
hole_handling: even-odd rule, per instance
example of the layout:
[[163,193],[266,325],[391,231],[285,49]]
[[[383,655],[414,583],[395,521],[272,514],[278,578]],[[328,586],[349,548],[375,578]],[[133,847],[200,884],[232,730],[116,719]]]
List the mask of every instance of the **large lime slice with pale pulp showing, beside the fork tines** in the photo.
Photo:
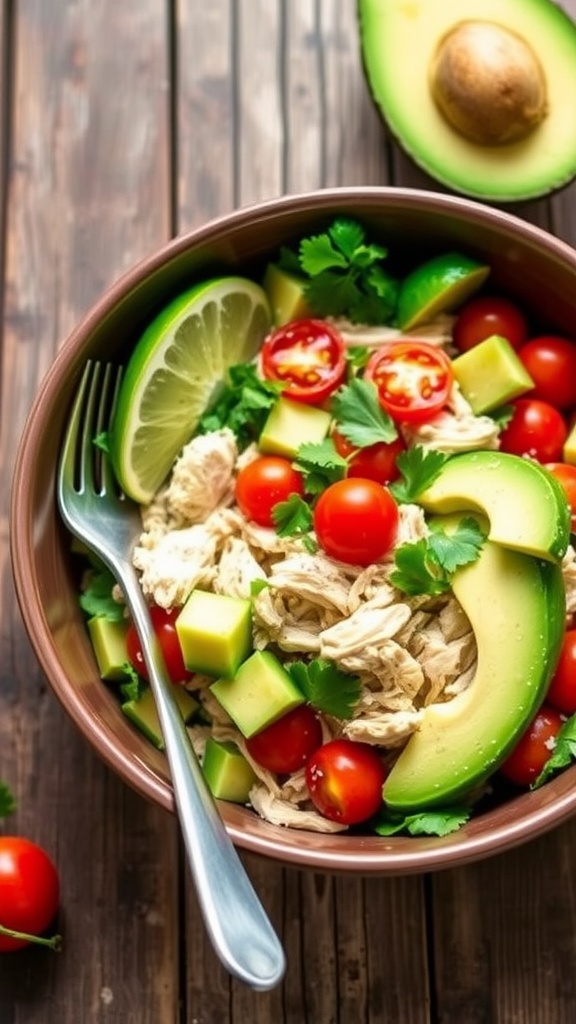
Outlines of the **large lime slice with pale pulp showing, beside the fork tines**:
[[126,367],[110,438],[130,498],[150,502],[228,369],[254,356],[271,324],[258,285],[219,278],[178,296],[147,328]]

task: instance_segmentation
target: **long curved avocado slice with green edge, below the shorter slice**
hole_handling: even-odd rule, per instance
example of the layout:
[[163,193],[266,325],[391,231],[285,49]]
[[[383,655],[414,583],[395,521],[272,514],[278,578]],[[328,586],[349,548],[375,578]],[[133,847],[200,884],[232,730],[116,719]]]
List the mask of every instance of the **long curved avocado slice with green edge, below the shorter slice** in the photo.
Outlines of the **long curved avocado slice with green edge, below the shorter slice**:
[[465,799],[496,770],[540,706],[562,646],[558,563],[486,541],[452,586],[476,636],[477,672],[462,693],[425,709],[384,782],[385,803],[403,813]]

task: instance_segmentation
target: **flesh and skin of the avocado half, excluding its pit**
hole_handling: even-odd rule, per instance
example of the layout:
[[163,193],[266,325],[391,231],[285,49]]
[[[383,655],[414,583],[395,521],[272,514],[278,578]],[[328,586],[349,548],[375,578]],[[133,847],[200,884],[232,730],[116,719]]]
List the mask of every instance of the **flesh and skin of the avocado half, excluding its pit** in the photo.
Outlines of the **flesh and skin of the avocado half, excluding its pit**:
[[[398,142],[449,188],[488,202],[535,199],[576,176],[576,25],[550,0],[358,0],[362,57],[372,96]],[[547,111],[525,138],[474,142],[437,105],[430,68],[462,22],[491,22],[537,55]]]

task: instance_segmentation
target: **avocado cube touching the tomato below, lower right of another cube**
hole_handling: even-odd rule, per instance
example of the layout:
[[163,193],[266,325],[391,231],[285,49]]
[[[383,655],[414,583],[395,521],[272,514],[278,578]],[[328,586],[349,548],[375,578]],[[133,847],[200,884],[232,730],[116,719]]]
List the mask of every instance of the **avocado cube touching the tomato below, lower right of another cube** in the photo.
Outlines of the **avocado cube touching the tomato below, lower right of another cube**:
[[268,650],[254,651],[233,679],[217,679],[210,690],[246,738],[304,702],[290,674]]

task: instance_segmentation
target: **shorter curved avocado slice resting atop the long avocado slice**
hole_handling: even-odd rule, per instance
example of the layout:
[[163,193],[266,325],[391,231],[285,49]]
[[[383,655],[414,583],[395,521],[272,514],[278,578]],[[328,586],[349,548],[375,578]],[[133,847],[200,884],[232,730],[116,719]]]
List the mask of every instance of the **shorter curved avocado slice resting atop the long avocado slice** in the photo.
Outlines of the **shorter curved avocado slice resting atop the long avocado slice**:
[[570,540],[566,495],[543,466],[504,452],[466,452],[449,459],[418,495],[427,512],[481,512],[491,541],[558,561]]

